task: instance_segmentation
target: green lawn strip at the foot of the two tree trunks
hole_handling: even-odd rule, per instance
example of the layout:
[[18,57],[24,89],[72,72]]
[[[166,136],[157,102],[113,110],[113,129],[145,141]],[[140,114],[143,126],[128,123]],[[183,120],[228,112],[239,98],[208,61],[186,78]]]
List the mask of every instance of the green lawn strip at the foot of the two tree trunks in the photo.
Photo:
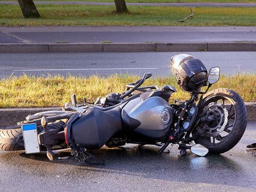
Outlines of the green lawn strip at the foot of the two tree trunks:
[[23,19],[18,5],[0,6],[1,26],[255,26],[255,7],[131,6],[129,14],[115,14],[114,6],[38,5],[39,19]]

